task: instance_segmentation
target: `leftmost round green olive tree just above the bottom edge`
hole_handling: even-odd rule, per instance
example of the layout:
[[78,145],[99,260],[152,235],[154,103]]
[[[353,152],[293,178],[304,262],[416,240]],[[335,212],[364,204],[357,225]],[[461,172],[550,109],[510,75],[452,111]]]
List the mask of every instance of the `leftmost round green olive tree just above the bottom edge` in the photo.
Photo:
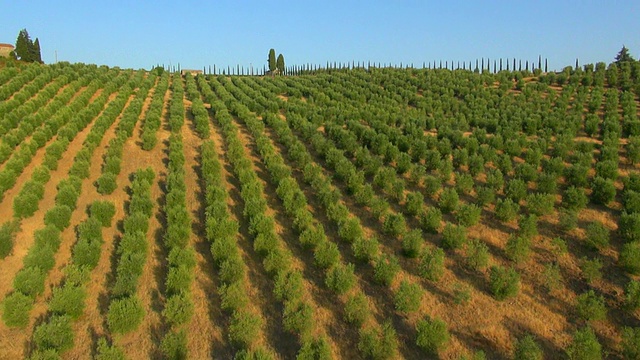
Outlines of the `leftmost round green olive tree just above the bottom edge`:
[[73,328],[68,316],[52,316],[33,331],[33,342],[38,349],[64,352],[73,347]]

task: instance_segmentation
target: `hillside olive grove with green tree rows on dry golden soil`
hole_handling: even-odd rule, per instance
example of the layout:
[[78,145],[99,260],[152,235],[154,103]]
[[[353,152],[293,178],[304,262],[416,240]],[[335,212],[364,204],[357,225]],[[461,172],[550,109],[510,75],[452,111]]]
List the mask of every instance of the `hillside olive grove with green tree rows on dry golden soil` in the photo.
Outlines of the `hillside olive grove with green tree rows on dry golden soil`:
[[1,67],[0,359],[633,358],[640,77],[603,65]]

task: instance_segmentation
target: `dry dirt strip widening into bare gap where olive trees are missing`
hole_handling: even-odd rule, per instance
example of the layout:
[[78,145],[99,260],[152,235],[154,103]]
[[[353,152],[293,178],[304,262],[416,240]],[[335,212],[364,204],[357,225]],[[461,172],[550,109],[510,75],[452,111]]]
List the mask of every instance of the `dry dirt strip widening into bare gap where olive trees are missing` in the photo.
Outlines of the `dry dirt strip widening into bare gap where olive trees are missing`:
[[[138,280],[138,296],[146,315],[138,329],[126,336],[118,337],[116,344],[129,359],[158,358],[158,347],[165,333],[161,312],[164,303],[164,282],[166,278],[167,260],[163,245],[164,235],[164,186],[166,179],[167,148],[169,129],[167,124],[167,104],[171,90],[165,93],[165,108],[161,116],[162,125],[157,132],[158,143],[151,151],[142,150],[133,139],[129,139],[124,147],[122,172],[131,174],[137,169],[151,167],[155,172],[155,180],[151,186],[151,199],[155,202],[154,212],[149,219],[149,249],[147,262]],[[135,131],[139,134],[139,129]]]

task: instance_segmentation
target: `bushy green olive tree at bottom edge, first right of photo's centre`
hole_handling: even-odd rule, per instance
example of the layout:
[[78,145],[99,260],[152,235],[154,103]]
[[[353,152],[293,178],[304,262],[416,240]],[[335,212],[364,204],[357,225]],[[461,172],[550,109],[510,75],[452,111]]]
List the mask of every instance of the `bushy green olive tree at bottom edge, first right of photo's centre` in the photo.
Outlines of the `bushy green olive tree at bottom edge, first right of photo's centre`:
[[360,329],[358,350],[368,359],[390,359],[398,350],[396,331],[389,321],[380,328]]

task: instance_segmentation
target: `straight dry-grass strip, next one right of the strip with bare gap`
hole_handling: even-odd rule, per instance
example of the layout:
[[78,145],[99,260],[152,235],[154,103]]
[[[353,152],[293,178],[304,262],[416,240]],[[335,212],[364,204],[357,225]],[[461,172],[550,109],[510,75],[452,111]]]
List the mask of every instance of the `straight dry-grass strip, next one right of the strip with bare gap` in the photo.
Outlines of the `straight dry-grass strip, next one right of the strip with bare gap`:
[[[189,114],[189,109],[187,109]],[[191,246],[196,251],[197,265],[195,279],[191,286],[191,294],[195,313],[187,326],[189,336],[189,357],[205,359],[221,356],[224,348],[223,313],[220,309],[220,285],[211,256],[210,243],[205,231],[205,201],[200,186],[201,160],[200,145],[202,140],[196,136],[192,116],[187,115],[182,127],[185,156],[185,185],[187,188],[187,209],[192,216]]]

